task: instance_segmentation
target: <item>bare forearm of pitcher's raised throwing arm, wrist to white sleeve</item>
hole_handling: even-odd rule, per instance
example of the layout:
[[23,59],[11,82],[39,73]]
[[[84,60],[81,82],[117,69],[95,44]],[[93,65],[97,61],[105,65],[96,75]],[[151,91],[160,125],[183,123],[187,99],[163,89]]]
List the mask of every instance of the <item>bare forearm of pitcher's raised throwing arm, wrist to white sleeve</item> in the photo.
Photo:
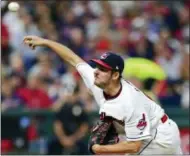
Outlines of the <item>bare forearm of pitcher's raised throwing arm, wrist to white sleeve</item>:
[[68,47],[51,41],[45,40],[44,46],[52,49],[55,53],[57,53],[64,61],[67,61],[69,64],[75,66],[78,63],[84,62],[78,55],[76,55],[71,49]]

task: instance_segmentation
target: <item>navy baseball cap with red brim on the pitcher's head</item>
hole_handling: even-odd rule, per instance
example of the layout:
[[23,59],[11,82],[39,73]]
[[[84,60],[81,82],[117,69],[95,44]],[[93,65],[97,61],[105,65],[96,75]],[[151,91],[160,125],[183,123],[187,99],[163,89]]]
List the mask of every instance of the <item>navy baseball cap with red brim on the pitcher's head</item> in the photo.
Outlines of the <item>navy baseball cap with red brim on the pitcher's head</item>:
[[112,52],[106,52],[99,59],[92,59],[91,61],[106,69],[118,71],[120,74],[122,74],[124,69],[123,58]]

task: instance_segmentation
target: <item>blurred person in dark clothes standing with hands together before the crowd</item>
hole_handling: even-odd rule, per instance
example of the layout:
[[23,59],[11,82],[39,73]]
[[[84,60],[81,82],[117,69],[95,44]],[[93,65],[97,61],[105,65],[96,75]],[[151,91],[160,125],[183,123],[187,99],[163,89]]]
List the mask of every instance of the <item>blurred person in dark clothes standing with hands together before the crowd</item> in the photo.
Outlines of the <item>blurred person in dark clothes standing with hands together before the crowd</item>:
[[88,131],[87,114],[78,100],[78,93],[79,88],[76,87],[74,94],[67,98],[67,102],[56,113],[53,124],[56,138],[49,143],[48,154],[61,155],[65,150],[73,151],[74,148],[77,148],[77,154],[88,154],[87,142],[84,141]]

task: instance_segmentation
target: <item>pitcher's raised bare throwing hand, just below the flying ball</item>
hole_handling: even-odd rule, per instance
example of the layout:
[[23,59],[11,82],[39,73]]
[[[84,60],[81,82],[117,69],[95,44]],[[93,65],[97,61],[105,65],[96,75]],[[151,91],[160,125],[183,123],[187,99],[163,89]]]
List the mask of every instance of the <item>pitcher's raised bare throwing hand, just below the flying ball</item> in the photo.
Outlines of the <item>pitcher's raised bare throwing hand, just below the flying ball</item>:
[[46,41],[46,39],[38,36],[26,36],[23,40],[23,42],[31,49],[35,49],[36,46],[45,46]]

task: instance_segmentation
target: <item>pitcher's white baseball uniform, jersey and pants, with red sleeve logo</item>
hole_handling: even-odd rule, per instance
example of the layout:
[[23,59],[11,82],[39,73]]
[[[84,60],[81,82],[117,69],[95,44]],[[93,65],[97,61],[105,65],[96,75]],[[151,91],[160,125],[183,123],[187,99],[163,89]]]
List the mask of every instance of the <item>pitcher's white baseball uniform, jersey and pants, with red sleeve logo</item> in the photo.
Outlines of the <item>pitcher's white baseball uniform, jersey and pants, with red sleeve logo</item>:
[[[157,154],[180,154],[176,152],[180,146],[178,127],[170,119],[164,124],[161,122],[165,113],[159,105],[123,79],[118,96],[106,99],[103,90],[94,84],[95,69],[87,63],[77,64],[76,69],[100,106],[99,113],[122,121],[127,141],[143,141],[140,153],[156,154],[157,150]],[[175,139],[172,138],[174,135]],[[163,152],[161,148],[164,149]]]

